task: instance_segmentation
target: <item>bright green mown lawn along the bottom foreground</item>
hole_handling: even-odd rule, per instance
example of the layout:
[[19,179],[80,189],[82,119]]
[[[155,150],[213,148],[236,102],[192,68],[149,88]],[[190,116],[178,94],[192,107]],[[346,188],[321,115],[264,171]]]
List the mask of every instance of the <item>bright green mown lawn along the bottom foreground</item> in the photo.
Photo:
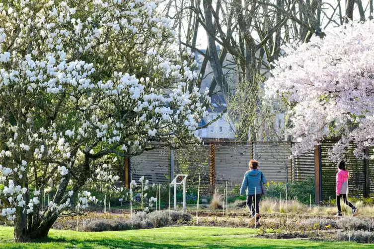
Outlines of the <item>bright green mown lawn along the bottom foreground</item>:
[[122,232],[83,233],[52,230],[44,241],[15,244],[13,229],[0,227],[0,248],[373,248],[373,245],[305,240],[256,239],[255,229],[214,227],[168,227]]

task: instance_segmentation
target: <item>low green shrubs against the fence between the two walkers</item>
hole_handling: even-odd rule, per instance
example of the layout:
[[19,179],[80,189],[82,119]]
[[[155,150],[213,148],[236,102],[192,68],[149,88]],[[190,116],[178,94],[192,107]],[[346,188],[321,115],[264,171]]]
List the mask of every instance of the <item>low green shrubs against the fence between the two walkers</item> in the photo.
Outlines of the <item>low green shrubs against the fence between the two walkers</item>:
[[[267,187],[267,196],[269,198],[280,198],[282,193],[282,199],[286,198],[286,184],[271,182]],[[314,202],[314,180],[308,179],[304,182],[291,182],[288,184],[287,199],[297,199],[301,203],[308,204],[310,201]]]

